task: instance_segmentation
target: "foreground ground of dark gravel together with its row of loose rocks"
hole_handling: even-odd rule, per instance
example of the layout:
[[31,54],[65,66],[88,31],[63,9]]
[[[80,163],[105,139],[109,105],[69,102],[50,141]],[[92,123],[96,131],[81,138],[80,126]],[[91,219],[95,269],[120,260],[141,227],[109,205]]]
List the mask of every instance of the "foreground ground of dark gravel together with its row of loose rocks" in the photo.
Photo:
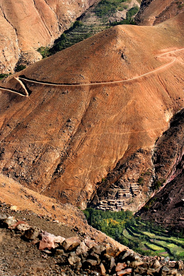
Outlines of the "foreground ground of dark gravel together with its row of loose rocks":
[[[0,272],[4,276],[180,275],[161,265],[160,258],[145,262],[133,251],[88,238],[55,236],[7,213],[0,214],[0,227]],[[174,265],[183,268],[181,262]]]

